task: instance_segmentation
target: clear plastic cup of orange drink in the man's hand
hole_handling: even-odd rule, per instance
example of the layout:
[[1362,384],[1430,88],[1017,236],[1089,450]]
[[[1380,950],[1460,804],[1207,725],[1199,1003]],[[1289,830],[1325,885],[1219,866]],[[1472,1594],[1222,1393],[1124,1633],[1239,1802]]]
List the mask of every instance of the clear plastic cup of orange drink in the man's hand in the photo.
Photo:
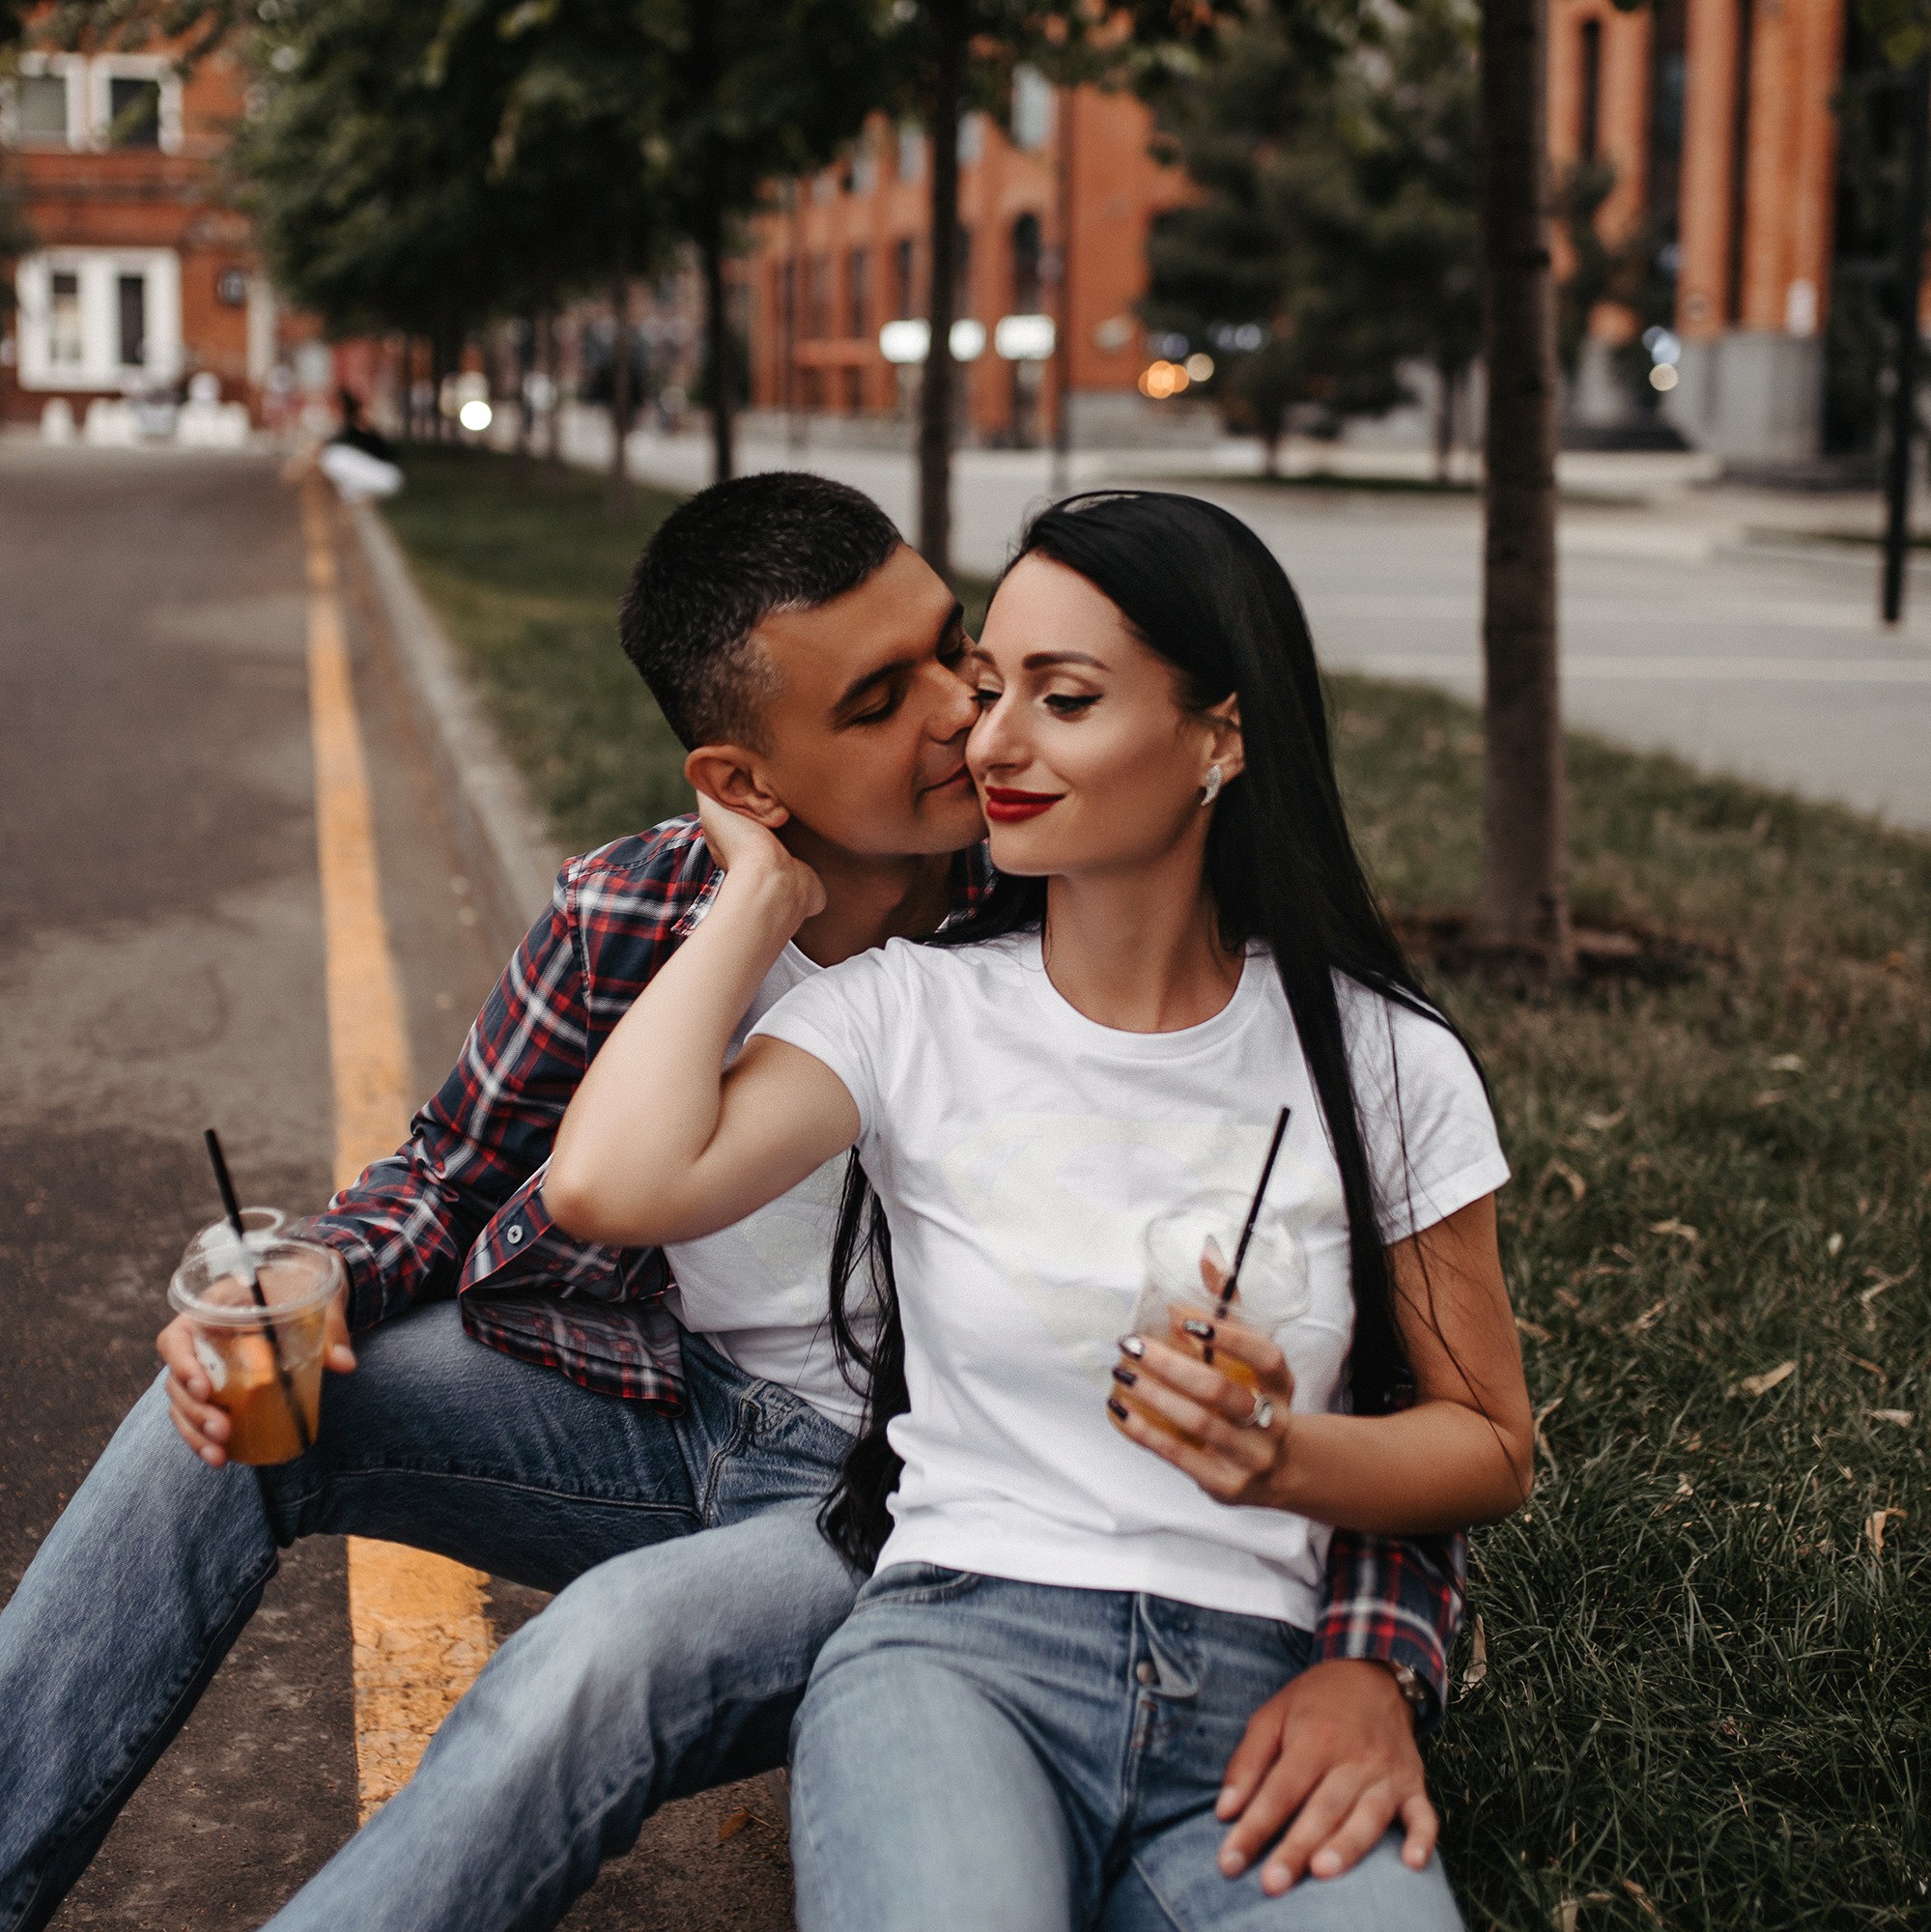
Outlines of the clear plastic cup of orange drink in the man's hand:
[[[249,1227],[249,1217],[265,1217]],[[272,1215],[272,1223],[266,1219]],[[187,1316],[195,1358],[210,1401],[230,1424],[228,1455],[265,1466],[292,1463],[313,1441],[322,1406],[322,1333],[328,1304],[348,1279],[342,1256],[280,1233],[272,1208],[247,1208],[241,1225],[263,1302],[239,1273],[226,1221],[203,1229],[168,1283],[170,1304]]]

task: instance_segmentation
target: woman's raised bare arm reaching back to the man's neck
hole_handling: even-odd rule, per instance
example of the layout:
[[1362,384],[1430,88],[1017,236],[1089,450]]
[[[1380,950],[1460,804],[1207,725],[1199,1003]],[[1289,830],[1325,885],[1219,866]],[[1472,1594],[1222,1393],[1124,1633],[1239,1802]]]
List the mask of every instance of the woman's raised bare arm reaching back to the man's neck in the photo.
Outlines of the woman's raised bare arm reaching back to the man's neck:
[[[705,813],[707,837],[720,808]],[[740,821],[743,823],[743,821]],[[695,1240],[794,1188],[857,1140],[844,1082],[782,1039],[730,1036],[784,943],[825,904],[817,875],[769,833],[730,871],[591,1061],[556,1132],[543,1202],[564,1233],[620,1248]],[[767,850],[769,848],[769,850]]]

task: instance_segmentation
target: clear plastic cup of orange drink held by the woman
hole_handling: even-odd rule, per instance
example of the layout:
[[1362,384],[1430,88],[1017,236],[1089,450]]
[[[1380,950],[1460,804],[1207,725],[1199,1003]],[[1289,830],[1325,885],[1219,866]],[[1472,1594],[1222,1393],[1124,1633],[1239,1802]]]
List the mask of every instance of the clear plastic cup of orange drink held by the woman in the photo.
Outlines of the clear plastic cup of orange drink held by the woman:
[[[1251,1389],[1253,1370],[1245,1362],[1186,1331],[1188,1321],[1238,1321],[1282,1343],[1282,1329],[1307,1314],[1307,1254],[1286,1215],[1273,1208],[1255,1215],[1234,1298],[1220,1306],[1247,1208],[1244,1194],[1195,1194],[1153,1217],[1145,1240],[1147,1275],[1133,1302],[1132,1327],[1135,1335],[1211,1362],[1228,1381]],[[1120,1399],[1132,1405],[1132,1395],[1122,1391]],[[1162,1416],[1141,1414],[1155,1428],[1191,1439]]]

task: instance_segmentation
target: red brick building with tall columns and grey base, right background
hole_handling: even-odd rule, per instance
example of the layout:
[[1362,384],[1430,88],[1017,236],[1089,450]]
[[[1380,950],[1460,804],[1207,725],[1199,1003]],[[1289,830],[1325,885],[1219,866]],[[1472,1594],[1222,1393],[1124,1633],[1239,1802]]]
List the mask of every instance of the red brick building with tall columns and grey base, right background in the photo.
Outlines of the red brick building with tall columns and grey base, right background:
[[[1869,454],[1887,334],[1873,290],[1896,218],[1865,170],[1902,147],[1906,97],[1856,10],[1553,0],[1549,83],[1558,182],[1578,160],[1610,164],[1601,232],[1653,265],[1661,413],[1744,464]],[[1632,357],[1618,394],[1609,355],[1643,321],[1609,305],[1593,317],[1583,419],[1630,412]],[[1639,355],[1634,369],[1639,381]]]

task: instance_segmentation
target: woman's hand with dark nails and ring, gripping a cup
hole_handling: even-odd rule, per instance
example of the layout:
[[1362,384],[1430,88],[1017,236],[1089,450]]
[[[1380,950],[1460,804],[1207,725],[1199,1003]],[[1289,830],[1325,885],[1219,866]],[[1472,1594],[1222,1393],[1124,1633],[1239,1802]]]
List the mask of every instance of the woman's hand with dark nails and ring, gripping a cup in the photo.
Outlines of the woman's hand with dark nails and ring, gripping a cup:
[[[1278,1507],[1294,1434],[1288,1358],[1240,1321],[1180,1314],[1172,1321],[1172,1343],[1120,1337],[1116,1387],[1106,1403],[1112,1426],[1184,1470],[1218,1503]],[[1197,1352],[1209,1345],[1215,1364]],[[1224,1376],[1220,1360],[1244,1364],[1255,1385]]]

